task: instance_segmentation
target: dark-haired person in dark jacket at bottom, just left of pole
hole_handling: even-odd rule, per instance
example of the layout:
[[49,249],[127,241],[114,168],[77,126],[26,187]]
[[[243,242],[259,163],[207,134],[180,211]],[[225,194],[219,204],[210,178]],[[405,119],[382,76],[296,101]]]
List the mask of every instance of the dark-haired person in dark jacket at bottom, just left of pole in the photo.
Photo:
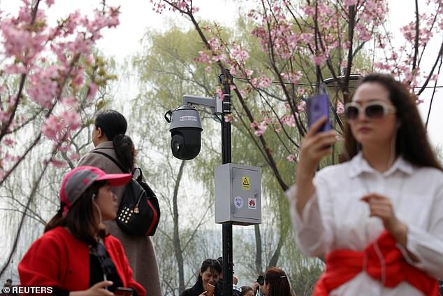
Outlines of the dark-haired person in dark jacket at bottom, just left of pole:
[[215,286],[214,296],[222,296],[221,291],[217,288],[217,281],[219,281],[221,273],[222,266],[217,260],[206,259],[201,265],[197,282],[192,288],[184,290],[180,296],[206,296],[209,284]]

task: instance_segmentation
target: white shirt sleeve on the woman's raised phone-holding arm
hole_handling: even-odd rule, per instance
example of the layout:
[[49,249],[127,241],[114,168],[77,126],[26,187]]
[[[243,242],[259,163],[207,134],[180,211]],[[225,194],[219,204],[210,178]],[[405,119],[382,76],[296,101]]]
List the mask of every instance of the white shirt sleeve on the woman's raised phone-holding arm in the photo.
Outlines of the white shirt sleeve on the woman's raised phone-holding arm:
[[[307,256],[324,255],[333,242],[333,210],[328,201],[326,182],[314,179],[315,191],[303,209],[300,217],[296,208],[296,185],[286,191],[289,199],[291,222],[300,251]],[[320,196],[319,196],[320,195]],[[319,199],[321,199],[322,204]]]

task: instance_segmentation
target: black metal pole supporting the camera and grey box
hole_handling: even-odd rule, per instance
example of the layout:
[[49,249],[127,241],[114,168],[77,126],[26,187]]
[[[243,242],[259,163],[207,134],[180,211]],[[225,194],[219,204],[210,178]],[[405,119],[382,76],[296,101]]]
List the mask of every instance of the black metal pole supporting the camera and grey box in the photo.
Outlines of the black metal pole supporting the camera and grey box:
[[[231,122],[224,120],[226,115],[231,115],[231,84],[233,76],[224,69],[219,76],[223,85],[223,113],[222,113],[222,163],[231,162]],[[233,246],[232,223],[223,223],[223,296],[232,296],[233,276]]]

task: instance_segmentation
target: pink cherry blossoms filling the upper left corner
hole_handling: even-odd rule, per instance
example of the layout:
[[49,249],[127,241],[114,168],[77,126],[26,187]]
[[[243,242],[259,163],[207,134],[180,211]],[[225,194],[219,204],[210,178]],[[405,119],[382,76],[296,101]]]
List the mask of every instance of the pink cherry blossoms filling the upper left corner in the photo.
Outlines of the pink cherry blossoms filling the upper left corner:
[[[36,116],[37,120],[44,119],[43,124],[38,125],[43,136],[55,143],[56,150],[66,150],[71,132],[80,127],[81,98],[76,96],[82,92],[78,90],[88,88],[92,95],[96,92],[94,82],[90,87],[85,86],[84,64],[80,62],[85,60],[92,65],[92,48],[101,38],[102,29],[119,24],[119,10],[104,6],[94,10],[92,17],[75,11],[51,27],[43,8],[54,3],[55,0],[22,0],[18,13],[1,14],[3,78],[17,80],[15,84],[22,84],[23,88],[10,90],[13,95],[1,96],[0,126],[4,122],[8,125],[2,126],[0,147],[20,145],[27,148],[28,143],[22,139],[15,144],[5,134],[27,122],[37,122],[31,118]],[[36,7],[38,4],[43,8]],[[12,113],[16,103],[17,111]],[[30,109],[41,110],[41,113],[29,114]],[[12,153],[15,151],[6,154],[0,150],[2,174],[6,171],[4,167],[13,167],[13,162],[22,160],[21,155]]]

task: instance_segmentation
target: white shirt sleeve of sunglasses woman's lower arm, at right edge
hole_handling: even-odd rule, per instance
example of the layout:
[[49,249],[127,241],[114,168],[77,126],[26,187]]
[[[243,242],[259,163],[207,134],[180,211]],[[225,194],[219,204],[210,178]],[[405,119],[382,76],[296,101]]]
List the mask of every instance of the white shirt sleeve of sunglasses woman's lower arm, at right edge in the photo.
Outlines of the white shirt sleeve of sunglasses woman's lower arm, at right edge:
[[443,279],[443,186],[436,192],[430,211],[428,230],[410,223],[407,225],[407,250],[419,261],[414,262],[404,248],[400,249],[409,264],[437,279]]

